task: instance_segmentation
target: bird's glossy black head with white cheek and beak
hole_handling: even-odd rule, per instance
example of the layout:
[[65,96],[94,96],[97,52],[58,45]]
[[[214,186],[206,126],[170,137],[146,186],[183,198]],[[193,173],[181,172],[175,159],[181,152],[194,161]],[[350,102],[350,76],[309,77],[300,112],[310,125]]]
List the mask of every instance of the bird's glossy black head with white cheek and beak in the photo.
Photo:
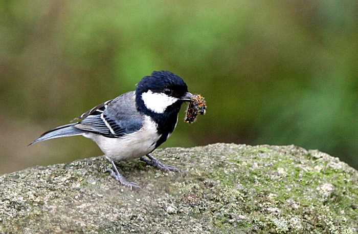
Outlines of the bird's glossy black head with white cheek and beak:
[[137,108],[141,109],[144,105],[157,114],[169,110],[178,112],[181,104],[192,97],[184,80],[168,71],[154,71],[150,76],[143,77],[136,89]]

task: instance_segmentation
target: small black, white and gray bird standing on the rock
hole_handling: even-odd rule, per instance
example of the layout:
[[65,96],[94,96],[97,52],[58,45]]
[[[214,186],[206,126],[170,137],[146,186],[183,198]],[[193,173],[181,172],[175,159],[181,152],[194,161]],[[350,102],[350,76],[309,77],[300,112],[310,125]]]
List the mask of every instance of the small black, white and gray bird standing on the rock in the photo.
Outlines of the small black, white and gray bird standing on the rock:
[[107,170],[110,175],[130,189],[141,189],[137,183],[126,180],[116,162],[139,158],[162,171],[179,172],[150,153],[170,137],[181,105],[193,97],[180,76],[153,71],[138,82],[135,91],[97,105],[73,119],[73,123],[45,132],[29,145],[78,135],[92,139],[110,162],[112,168]]

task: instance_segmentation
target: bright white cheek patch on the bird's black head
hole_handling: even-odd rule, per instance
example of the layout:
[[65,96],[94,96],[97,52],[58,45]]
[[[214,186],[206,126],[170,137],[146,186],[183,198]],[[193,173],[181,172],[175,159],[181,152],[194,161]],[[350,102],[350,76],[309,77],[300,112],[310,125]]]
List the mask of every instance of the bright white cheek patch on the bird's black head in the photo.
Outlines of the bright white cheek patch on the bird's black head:
[[142,99],[149,110],[159,114],[164,113],[169,105],[179,100],[176,97],[169,97],[164,93],[153,93],[150,90],[142,94]]

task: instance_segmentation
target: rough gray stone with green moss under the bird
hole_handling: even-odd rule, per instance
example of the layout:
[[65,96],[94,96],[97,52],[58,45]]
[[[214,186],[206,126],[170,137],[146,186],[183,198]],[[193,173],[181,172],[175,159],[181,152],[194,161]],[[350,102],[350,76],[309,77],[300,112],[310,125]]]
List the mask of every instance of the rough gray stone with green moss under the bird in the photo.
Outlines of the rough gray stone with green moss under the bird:
[[358,172],[319,151],[213,144],[157,150],[104,173],[103,157],[0,176],[0,233],[357,233]]

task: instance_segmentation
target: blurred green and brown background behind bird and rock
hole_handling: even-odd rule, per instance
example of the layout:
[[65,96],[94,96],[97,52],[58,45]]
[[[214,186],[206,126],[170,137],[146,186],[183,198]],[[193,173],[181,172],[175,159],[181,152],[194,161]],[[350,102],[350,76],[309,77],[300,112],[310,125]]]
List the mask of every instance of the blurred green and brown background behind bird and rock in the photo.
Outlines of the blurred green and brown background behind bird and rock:
[[162,147],[295,144],[358,168],[357,65],[353,0],[1,1],[0,174],[102,155],[82,137],[26,145],[153,70],[208,104]]

